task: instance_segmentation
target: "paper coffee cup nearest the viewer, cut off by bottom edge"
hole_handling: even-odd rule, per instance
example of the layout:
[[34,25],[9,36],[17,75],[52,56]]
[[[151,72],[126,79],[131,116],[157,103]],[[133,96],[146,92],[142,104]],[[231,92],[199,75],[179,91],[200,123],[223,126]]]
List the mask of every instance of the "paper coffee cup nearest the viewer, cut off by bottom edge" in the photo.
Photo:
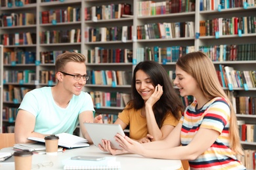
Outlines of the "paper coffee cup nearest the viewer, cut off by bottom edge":
[[31,170],[32,168],[32,155],[30,151],[16,151],[14,152],[15,170]]

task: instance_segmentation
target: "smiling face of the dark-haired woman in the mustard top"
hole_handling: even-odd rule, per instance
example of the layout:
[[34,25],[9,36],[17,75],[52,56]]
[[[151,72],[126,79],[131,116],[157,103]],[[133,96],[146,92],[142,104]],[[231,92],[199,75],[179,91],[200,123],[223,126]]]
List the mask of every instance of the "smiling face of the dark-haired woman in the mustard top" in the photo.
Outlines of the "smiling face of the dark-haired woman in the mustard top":
[[142,70],[137,71],[135,77],[135,87],[137,92],[144,101],[148,100],[154,92],[154,85],[152,84],[151,78]]

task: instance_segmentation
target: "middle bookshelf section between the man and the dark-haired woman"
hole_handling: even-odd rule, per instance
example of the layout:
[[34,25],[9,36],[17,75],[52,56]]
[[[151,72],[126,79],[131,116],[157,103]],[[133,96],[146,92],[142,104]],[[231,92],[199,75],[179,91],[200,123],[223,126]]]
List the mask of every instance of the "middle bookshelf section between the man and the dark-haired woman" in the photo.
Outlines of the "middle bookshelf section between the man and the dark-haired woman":
[[[104,5],[104,11],[106,11],[106,9],[114,10],[115,8],[118,8],[120,4],[131,5],[131,12],[133,12],[135,3],[134,1],[131,1],[131,0],[129,1],[85,1],[84,7],[85,9],[87,9],[87,11],[94,10],[97,13],[98,7],[102,7],[102,5]],[[116,12],[114,12],[113,14],[113,11],[110,12],[110,10],[108,10],[106,14],[102,14],[102,15],[98,14],[100,15],[98,17],[96,17],[96,15],[95,17],[93,17],[85,14],[85,22],[83,25],[83,27],[85,28],[85,36],[88,35],[89,37],[85,38],[82,51],[87,51],[86,54],[88,58],[90,56],[89,50],[94,50],[95,56],[97,55],[101,56],[100,59],[95,58],[95,61],[92,61],[92,59],[88,59],[89,61],[87,63],[87,70],[91,72],[95,72],[95,75],[97,71],[104,70],[105,72],[108,71],[108,73],[109,71],[112,71],[112,76],[110,78],[112,80],[110,80],[110,83],[87,82],[87,85],[85,86],[85,90],[87,92],[91,92],[91,95],[93,95],[92,92],[95,94],[100,92],[100,100],[97,100],[96,99],[97,95],[95,95],[95,110],[96,110],[96,114],[98,113],[104,114],[104,117],[103,117],[104,122],[113,122],[114,120],[116,120],[118,112],[121,112],[121,110],[123,110],[123,105],[117,105],[116,101],[118,101],[118,99],[116,98],[116,101],[115,101],[115,99],[112,100],[112,98],[115,98],[115,96],[121,93],[131,93],[131,81],[120,84],[118,82],[118,77],[116,82],[113,81],[114,75],[117,76],[117,72],[126,71],[126,72],[129,72],[131,76],[131,72],[133,70],[133,64],[131,63],[131,60],[130,61],[124,61],[125,59],[117,60],[117,57],[116,58],[108,57],[108,59],[102,59],[104,58],[102,57],[102,53],[104,55],[104,51],[109,54],[108,56],[110,56],[111,53],[116,52],[117,54],[117,51],[120,51],[120,50],[121,52],[125,53],[125,50],[126,51],[129,50],[131,52],[134,49],[133,48],[134,43],[131,39],[131,35],[127,33],[129,35],[128,37],[120,37],[119,35],[121,35],[121,31],[118,31],[120,27],[124,27],[124,26],[125,27],[127,26],[128,29],[130,27],[131,29],[131,25],[134,25],[133,17],[122,18],[120,16],[118,17],[115,14]],[[105,19],[105,18],[108,18],[108,19]],[[111,37],[101,36],[100,38],[97,37],[94,41],[93,38],[90,38],[93,36],[91,35],[90,32],[92,32],[92,30],[95,31],[98,29],[100,31],[103,29],[107,29],[108,31],[110,31],[110,33],[112,33],[111,34],[112,36]],[[81,36],[83,37],[83,34]],[[108,41],[106,41],[106,39],[108,39]],[[112,56],[114,56],[114,54]],[[93,75],[91,75],[91,77],[92,77],[91,79],[93,80],[94,73]],[[104,96],[102,97],[102,95],[105,95],[105,96],[114,95],[114,97],[110,97],[111,99],[110,99],[110,102],[108,103],[108,101],[104,102],[105,97]],[[98,101],[100,101],[100,103],[98,103]]]

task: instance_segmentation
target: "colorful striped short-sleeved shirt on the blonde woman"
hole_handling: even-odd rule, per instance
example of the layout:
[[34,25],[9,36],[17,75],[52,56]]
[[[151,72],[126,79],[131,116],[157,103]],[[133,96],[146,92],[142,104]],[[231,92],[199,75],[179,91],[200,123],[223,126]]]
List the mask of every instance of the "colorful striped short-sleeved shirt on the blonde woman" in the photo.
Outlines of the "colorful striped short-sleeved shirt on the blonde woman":
[[180,120],[182,146],[192,141],[200,127],[219,131],[220,135],[196,160],[189,161],[190,169],[245,169],[229,148],[230,107],[226,100],[216,97],[200,109],[196,105],[197,101],[189,105]]

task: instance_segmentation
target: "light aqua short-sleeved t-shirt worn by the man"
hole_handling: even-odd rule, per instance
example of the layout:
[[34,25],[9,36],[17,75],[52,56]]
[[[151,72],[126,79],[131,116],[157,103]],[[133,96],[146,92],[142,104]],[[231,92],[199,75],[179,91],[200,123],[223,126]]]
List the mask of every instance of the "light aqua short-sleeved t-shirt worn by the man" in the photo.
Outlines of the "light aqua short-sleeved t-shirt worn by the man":
[[73,134],[79,123],[79,114],[86,110],[95,112],[91,95],[86,92],[73,95],[68,107],[60,108],[53,99],[51,87],[37,88],[26,93],[18,109],[35,116],[34,131],[42,134]]

